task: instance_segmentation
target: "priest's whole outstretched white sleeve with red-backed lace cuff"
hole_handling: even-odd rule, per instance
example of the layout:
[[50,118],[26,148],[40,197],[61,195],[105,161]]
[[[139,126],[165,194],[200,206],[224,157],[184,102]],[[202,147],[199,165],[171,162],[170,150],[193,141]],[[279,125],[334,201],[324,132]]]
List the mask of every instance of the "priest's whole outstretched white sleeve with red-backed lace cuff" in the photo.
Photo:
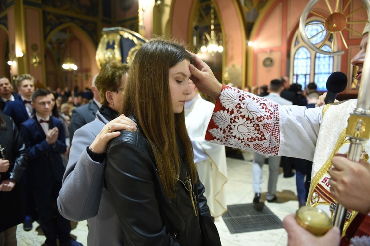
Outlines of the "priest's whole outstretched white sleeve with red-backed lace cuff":
[[[308,112],[309,116],[306,111],[305,107],[280,106],[272,100],[223,86],[206,140],[264,155],[312,159],[321,111]],[[285,134],[289,134],[289,143],[284,141]],[[305,148],[307,153],[303,153]]]

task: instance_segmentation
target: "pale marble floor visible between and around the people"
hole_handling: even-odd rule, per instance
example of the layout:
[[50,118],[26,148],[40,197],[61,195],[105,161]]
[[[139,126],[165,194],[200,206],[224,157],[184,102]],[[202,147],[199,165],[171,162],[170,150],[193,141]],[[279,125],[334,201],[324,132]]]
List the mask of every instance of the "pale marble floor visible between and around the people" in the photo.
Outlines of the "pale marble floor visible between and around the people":
[[[244,161],[227,158],[228,182],[226,184],[228,205],[252,203],[254,192],[252,189],[252,158],[250,152],[243,152]],[[263,166],[262,190],[267,190],[268,165]],[[277,183],[277,203],[268,203],[266,193],[262,193],[261,202],[281,220],[298,209],[296,197],[296,178],[283,178],[279,175]],[[222,220],[222,217],[215,222],[218,228],[222,246],[283,246],[287,245],[287,234],[284,229],[265,230],[257,232],[246,232],[231,234]],[[82,221],[72,224],[71,235],[87,245],[87,222]],[[22,225],[17,229],[18,246],[39,246],[44,243],[45,237],[37,224],[34,222],[33,229],[29,232],[23,231]]]

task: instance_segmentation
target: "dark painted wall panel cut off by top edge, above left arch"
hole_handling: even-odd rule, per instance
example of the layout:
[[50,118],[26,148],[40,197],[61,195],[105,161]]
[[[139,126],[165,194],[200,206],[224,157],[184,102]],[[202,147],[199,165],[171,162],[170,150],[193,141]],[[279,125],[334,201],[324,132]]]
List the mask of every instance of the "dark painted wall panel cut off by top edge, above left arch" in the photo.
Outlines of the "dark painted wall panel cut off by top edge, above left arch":
[[89,4],[83,4],[80,0],[42,0],[44,6],[77,14],[98,16],[99,1],[89,0],[89,2]]

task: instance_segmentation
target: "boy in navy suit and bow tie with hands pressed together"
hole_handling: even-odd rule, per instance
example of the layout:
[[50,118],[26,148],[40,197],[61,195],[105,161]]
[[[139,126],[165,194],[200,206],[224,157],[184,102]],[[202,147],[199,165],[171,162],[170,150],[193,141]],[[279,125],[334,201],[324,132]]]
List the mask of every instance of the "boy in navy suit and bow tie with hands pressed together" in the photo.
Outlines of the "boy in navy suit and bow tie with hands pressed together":
[[71,240],[70,221],[63,218],[54,205],[64,174],[60,155],[66,151],[62,122],[50,116],[52,101],[49,92],[37,90],[31,101],[36,114],[21,124],[20,133],[29,154],[27,183],[35,198],[41,228],[46,236],[45,244],[56,246],[59,239],[60,246],[81,245]]

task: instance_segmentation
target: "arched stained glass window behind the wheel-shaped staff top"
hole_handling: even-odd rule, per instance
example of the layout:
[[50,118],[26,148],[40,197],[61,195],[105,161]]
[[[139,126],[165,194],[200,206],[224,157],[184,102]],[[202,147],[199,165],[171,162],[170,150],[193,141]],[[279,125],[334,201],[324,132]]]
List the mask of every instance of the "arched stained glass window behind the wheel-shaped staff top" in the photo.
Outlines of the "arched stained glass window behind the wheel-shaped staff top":
[[[320,45],[327,35],[322,23],[311,21],[306,26],[307,36],[313,44]],[[332,36],[325,42],[322,50],[331,51]],[[291,44],[290,77],[292,83],[302,85],[304,90],[308,83],[315,82],[319,91],[326,90],[326,80],[333,73],[336,58],[312,51],[302,40],[297,29]]]

